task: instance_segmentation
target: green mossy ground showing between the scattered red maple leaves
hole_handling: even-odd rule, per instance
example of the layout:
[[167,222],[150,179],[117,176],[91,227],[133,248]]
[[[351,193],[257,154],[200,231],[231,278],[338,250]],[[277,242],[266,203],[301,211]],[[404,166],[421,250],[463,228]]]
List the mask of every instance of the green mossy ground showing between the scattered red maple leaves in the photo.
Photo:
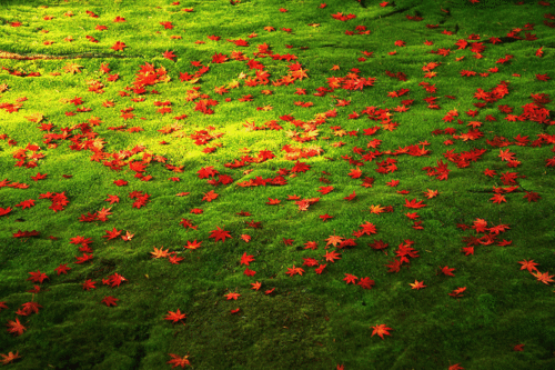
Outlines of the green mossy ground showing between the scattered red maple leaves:
[[[321,1],[272,1],[242,0],[236,6],[228,1],[9,1],[0,0],[0,51],[26,56],[65,56],[64,60],[12,60],[1,59],[0,64],[9,70],[40,72],[41,77],[16,77],[0,71],[0,84],[8,90],[0,93],[0,104],[16,103],[27,97],[19,112],[0,110],[0,134],[17,141],[10,146],[8,139],[0,140],[0,180],[28,183],[28,189],[0,188],[0,208],[13,210],[0,217],[0,301],[9,307],[0,311],[2,327],[18,317],[14,312],[31,300],[42,306],[38,314],[19,316],[27,331],[13,337],[2,329],[0,353],[19,351],[21,360],[10,369],[162,369],[170,368],[169,353],[181,357],[189,353],[196,369],[447,369],[460,363],[465,369],[553,369],[555,368],[555,327],[553,326],[553,288],[541,283],[527,271],[521,271],[518,261],[533,259],[539,263],[541,272],[555,270],[553,244],[553,207],[555,186],[553,168],[546,160],[553,158],[553,144],[541,148],[512,144],[509,149],[521,161],[516,168],[501,161],[500,148],[486,142],[496,137],[514,141],[517,134],[532,141],[538,134],[554,134],[552,126],[533,121],[509,122],[497,106],[513,107],[513,114],[523,113],[523,106],[532,103],[531,94],[545,93],[552,99],[555,88],[551,81],[539,81],[536,74],[547,73],[555,78],[553,29],[544,24],[544,14],[553,14],[553,6],[536,1],[523,1],[521,6],[493,0],[470,1],[416,1],[398,0],[395,7],[380,7],[376,1],[329,1],[320,9]],[[44,8],[42,6],[48,6]],[[184,12],[194,8],[194,12]],[[280,12],[286,8],[289,12]],[[445,10],[445,11],[442,11]],[[73,17],[64,13],[73,12]],[[85,11],[99,18],[89,17]],[[446,12],[448,11],[448,12]],[[342,22],[331,14],[356,14],[356,19]],[[44,20],[53,16],[52,20]],[[406,18],[422,17],[422,21]],[[113,22],[123,17],[125,22]],[[11,27],[19,21],[21,27]],[[164,29],[160,22],[171,22],[173,29]],[[310,24],[319,24],[312,27]],[[525,29],[533,23],[533,30],[523,30],[537,40],[514,40],[507,36],[515,28]],[[98,24],[108,30],[95,30]],[[425,24],[438,24],[430,29]],[[264,27],[274,27],[269,32]],[[355,31],[365,26],[370,34],[346,36],[345,30]],[[291,33],[282,28],[292,29]],[[48,30],[48,33],[41,32]],[[444,34],[442,31],[453,34]],[[256,33],[254,38],[250,34]],[[474,58],[470,48],[457,50],[455,42],[480,34],[486,47],[483,58]],[[63,39],[71,36],[73,41]],[[90,42],[85,36],[99,42]],[[181,38],[171,38],[178,36]],[[208,39],[220,36],[220,41]],[[504,42],[492,44],[488,39],[498,37]],[[226,40],[243,39],[250,47],[236,47]],[[46,46],[50,40],[54,43]],[[196,41],[204,43],[196,43]],[[396,47],[395,41],[405,41]],[[424,41],[433,41],[432,46]],[[124,51],[111,47],[124,42]],[[470,40],[470,42],[474,42]],[[258,46],[266,43],[274,53],[291,53],[307,72],[309,78],[290,86],[246,87],[239,79],[241,72],[254,76],[245,62],[229,60],[211,63],[212,56],[242,51],[253,58]],[[286,46],[292,46],[287,48]],[[543,47],[543,58],[535,57]],[[431,53],[431,50],[450,49],[447,57]],[[389,54],[392,51],[396,54]],[[175,61],[164,59],[162,53],[173,51]],[[363,51],[373,52],[366,61]],[[511,54],[507,63],[497,60]],[[79,58],[84,56],[85,58]],[[89,57],[93,58],[89,58]],[[462,58],[456,61],[457,58]],[[73,59],[77,58],[77,59]],[[265,66],[271,81],[285,76],[286,61],[258,58]],[[199,83],[180,81],[180,72],[194,73],[198,68],[191,61],[201,61],[210,67]],[[81,73],[64,72],[64,67],[74,62],[81,66]],[[434,78],[425,78],[422,67],[436,62]],[[113,82],[100,72],[108,63],[111,72],[120,79]],[[164,67],[169,82],[147,87],[159,94],[143,94],[144,101],[132,101],[139,96],[127,91],[141,66],[151,63]],[[340,70],[331,70],[333,66]],[[476,73],[498,68],[497,73],[487,77],[461,77],[462,70]],[[331,77],[345,77],[352,69],[359,76],[375,78],[373,87],[363,91],[336,89],[325,97],[313,96],[317,88],[327,87]],[[386,71],[404,72],[406,81],[386,76]],[[60,72],[59,76],[52,72]],[[88,91],[87,82],[99,80],[104,87],[101,94]],[[241,81],[239,89],[230,89],[220,96],[215,87]],[[507,81],[509,93],[503,99],[477,109],[474,98],[477,89],[491,91],[502,81]],[[435,84],[436,92],[428,93],[421,82]],[[193,87],[219,101],[212,107],[213,114],[194,111],[194,103],[185,97]],[[306,89],[305,96],[294,94]],[[390,98],[391,91],[410,89],[400,98]],[[263,94],[262,90],[272,90]],[[241,102],[251,94],[253,101]],[[427,97],[437,97],[440,109],[427,109]],[[453,96],[456,99],[448,99]],[[64,99],[82,98],[79,107],[91,108],[68,117],[65,112],[78,107],[63,102]],[[230,98],[231,101],[224,101]],[[337,100],[350,100],[347,107],[336,107]],[[414,103],[406,112],[395,112],[402,100]],[[113,101],[113,108],[104,108],[105,101]],[[171,101],[172,112],[157,112],[155,101]],[[295,101],[313,102],[302,108]],[[271,106],[273,110],[256,110]],[[380,130],[373,137],[363,136],[363,130],[380,126],[361,114],[349,119],[353,111],[366,107],[390,109],[392,121],[398,126],[393,131]],[[546,103],[552,109],[553,103]],[[122,110],[133,108],[134,119],[123,120]],[[316,114],[336,109],[337,117],[329,118],[317,127],[315,141],[297,143],[287,137],[289,130],[302,132],[301,128],[282,121],[279,117],[291,114],[297,120],[310,121]],[[445,122],[444,116],[456,110],[458,117]],[[465,112],[478,110],[475,118]],[[40,112],[43,122],[54,124],[52,132],[71,128],[98,117],[102,123],[92,128],[103,139],[104,152],[115,153],[137,146],[145,152],[163,156],[167,163],[183,166],[183,172],[175,173],[162,163],[152,161],[144,172],[151,181],[140,181],[129,167],[112,171],[101,162],[91,161],[88,150],[72,150],[70,140],[56,140],[57,148],[43,143],[46,131],[24,117]],[[184,120],[173,117],[188,114]],[[497,121],[487,121],[491,114]],[[553,116],[553,114],[552,114]],[[144,119],[141,119],[144,118]],[[457,123],[462,120],[462,124]],[[552,117],[553,119],[553,117]],[[245,122],[254,121],[261,127],[276,120],[283,130],[248,131]],[[432,134],[434,130],[454,128],[457,134],[467,132],[470,121],[483,122],[478,140],[454,140],[447,134]],[[181,129],[172,134],[158,130],[179,123]],[[143,131],[121,132],[110,127],[140,127]],[[213,127],[210,131],[222,137],[206,146],[195,146],[190,136]],[[356,136],[335,136],[332,127]],[[74,130],[72,133],[79,132]],[[353,148],[367,149],[372,139],[382,140],[380,151],[395,151],[398,148],[427,141],[428,156],[410,157],[382,156],[364,162],[360,169],[361,179],[351,179],[347,173],[355,168],[342,157],[361,160]],[[453,139],[453,144],[444,142]],[[168,144],[161,144],[167,141]],[[333,146],[342,141],[343,146]],[[41,147],[46,157],[33,169],[16,167],[13,154],[28,143]],[[261,177],[273,178],[280,169],[291,169],[295,161],[287,160],[283,147],[295,148],[317,146],[322,156],[301,159],[311,170],[285,176],[286,186],[241,188],[236,184]],[[214,147],[213,153],[202,152]],[[224,164],[245,156],[240,149],[248,148],[251,156],[270,150],[276,157],[263,163],[229,169]],[[448,162],[444,153],[456,153],[473,149],[486,152],[467,168],[457,168]],[[375,149],[373,149],[375,150]],[[397,160],[393,173],[376,172],[375,162],[387,158]],[[142,160],[142,153],[131,157]],[[424,167],[448,163],[448,180],[440,181],[426,176]],[[129,161],[127,159],[125,161]],[[213,187],[206,179],[199,179],[201,168],[212,166],[221,174],[234,180],[229,186]],[[486,177],[484,170],[495,170],[497,176]],[[243,172],[249,170],[250,172]],[[503,187],[500,176],[517,172],[525,178],[517,179],[519,188],[505,194],[506,202],[491,201],[493,187]],[[30,177],[37,172],[48,178],[34,182]],[[324,173],[325,172],[325,173]],[[62,174],[72,174],[65,179]],[[178,177],[173,182],[169,178]],[[372,188],[361,187],[362,179],[374,178]],[[113,181],[129,181],[127,187],[117,187]],[[396,188],[386,186],[398,180]],[[333,186],[334,190],[322,196],[320,187]],[[425,199],[424,191],[438,190],[433,199]],[[128,196],[138,190],[150,194],[149,202],[141,209],[132,207],[134,199]],[[212,202],[202,200],[204,193],[214,190],[219,194]],[[407,190],[402,194],[397,191]],[[353,201],[343,198],[356,192]],[[542,199],[528,202],[524,191],[538,193]],[[39,199],[46,192],[65,192],[70,203],[64,210],[48,209],[50,201]],[[186,197],[175,197],[190,192]],[[111,207],[107,222],[79,222],[82,214],[93,213],[110,207],[108,194],[120,197]],[[320,201],[300,211],[287,196],[317,198]],[[279,199],[278,206],[268,206],[268,199]],[[14,207],[21,201],[33,199],[36,206],[22,210]],[[405,199],[423,200],[427,207],[420,210],[405,208]],[[372,214],[370,206],[392,206],[393,212]],[[192,209],[202,209],[202,214],[192,214]],[[241,211],[252,216],[238,216]],[[413,221],[406,212],[417,212],[423,230],[412,228]],[[319,216],[333,218],[323,222]],[[184,229],[180,221],[189,219],[196,230]],[[476,236],[474,230],[463,231],[458,223],[471,226],[476,219],[484,219],[488,227],[507,224],[496,242],[511,240],[512,244],[500,247],[475,247],[474,256],[465,256],[463,238]],[[260,229],[249,228],[246,222],[261,222]],[[365,221],[377,229],[373,236],[353,237]],[[231,239],[214,242],[209,238],[211,230],[220,227],[230,232]],[[131,241],[107,240],[107,230],[122,230],[134,233]],[[18,230],[38,230],[39,237],[13,238]],[[252,237],[250,242],[241,234]],[[50,236],[54,238],[49,238]],[[75,256],[82,252],[70,243],[71,238],[91,238],[92,262],[75,264]],[[353,238],[356,247],[342,249],[341,260],[325,262],[324,253],[330,236]],[[482,234],[478,234],[481,237]],[[284,239],[293,239],[291,246]],[[188,250],[188,241],[202,241],[198,250]],[[383,251],[372,250],[369,243],[383,240],[390,247]],[[414,241],[413,248],[420,257],[403,264],[398,273],[389,273],[385,264],[395,256],[394,250],[405,240]],[[309,241],[317,242],[316,250],[304,249]],[[153,247],[175,251],[183,261],[179,266],[167,259],[152,259]],[[246,252],[254,257],[249,268],[254,277],[243,274],[245,266],[240,263]],[[303,264],[302,258],[314,258],[327,263],[322,274]],[[68,274],[57,276],[54,269],[68,263]],[[289,277],[289,268],[302,267],[303,276]],[[455,268],[455,277],[446,277],[441,268]],[[27,292],[33,283],[26,279],[30,271],[40,270],[49,276],[41,286],[41,292]],[[102,279],[118,272],[127,281],[118,288],[102,284]],[[345,284],[343,278],[351,273],[357,278],[370,277],[375,287],[363,290],[359,286]],[[97,289],[83,291],[82,283],[91,279]],[[412,290],[410,283],[424,281],[427,288]],[[254,291],[251,283],[262,283]],[[464,297],[448,296],[454,289],[466,287]],[[265,290],[275,288],[272,294]],[[236,301],[225,299],[226,293],[236,291]],[[100,303],[105,296],[119,299],[118,306],[108,308]],[[240,308],[238,313],[231,310]],[[163,320],[168,311],[186,313],[185,326]],[[376,324],[393,328],[384,340],[371,337]],[[524,351],[514,351],[516,344],[525,344]]]

